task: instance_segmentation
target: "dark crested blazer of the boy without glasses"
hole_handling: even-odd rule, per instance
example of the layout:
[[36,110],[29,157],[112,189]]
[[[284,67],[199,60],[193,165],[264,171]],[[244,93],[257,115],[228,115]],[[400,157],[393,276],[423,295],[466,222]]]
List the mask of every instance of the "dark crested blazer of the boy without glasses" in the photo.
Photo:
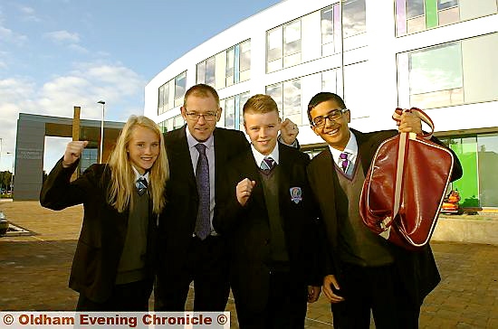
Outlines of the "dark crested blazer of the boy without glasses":
[[[310,157],[295,148],[279,147],[279,209],[296,290],[307,285],[321,286],[315,248],[317,219],[315,203],[306,176]],[[263,183],[254,155],[248,150],[230,163],[226,183],[232,186],[221,215],[215,218],[215,230],[228,235],[231,253],[231,280],[237,311],[239,306],[256,307],[261,312],[268,300],[269,261],[271,261],[270,227]],[[255,181],[253,192],[244,207],[236,200],[235,186],[244,178]],[[293,202],[290,189],[299,187],[302,200]],[[315,260],[313,260],[315,259]],[[303,303],[306,303],[303,300]]]

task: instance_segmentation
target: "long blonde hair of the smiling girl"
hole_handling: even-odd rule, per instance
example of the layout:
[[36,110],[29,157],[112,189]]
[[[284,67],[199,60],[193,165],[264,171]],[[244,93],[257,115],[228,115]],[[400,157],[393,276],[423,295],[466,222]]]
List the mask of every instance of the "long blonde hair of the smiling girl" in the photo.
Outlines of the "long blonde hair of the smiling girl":
[[108,190],[108,202],[117,211],[123,212],[133,205],[131,195],[135,189],[135,172],[129,161],[128,146],[135,127],[145,127],[159,137],[158,159],[148,172],[148,192],[152,198],[152,211],[160,213],[166,203],[165,186],[169,178],[168,157],[164,146],[164,138],[158,125],[144,116],[130,116],[121,130],[116,146],[110,154],[109,163],[111,183]]

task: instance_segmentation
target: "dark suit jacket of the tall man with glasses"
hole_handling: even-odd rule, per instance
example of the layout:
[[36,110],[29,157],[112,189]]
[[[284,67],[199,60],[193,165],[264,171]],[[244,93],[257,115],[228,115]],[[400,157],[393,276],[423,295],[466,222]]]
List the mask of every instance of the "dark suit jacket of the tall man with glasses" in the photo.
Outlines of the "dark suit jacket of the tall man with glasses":
[[[187,126],[165,135],[169,162],[167,205],[159,219],[160,268],[159,276],[174,274],[186,260],[188,245],[196,227],[198,195],[196,175],[188,149]],[[215,137],[215,214],[225,194],[223,180],[226,164],[235,155],[249,149],[244,133],[216,127]],[[159,278],[160,278],[159,277]]]

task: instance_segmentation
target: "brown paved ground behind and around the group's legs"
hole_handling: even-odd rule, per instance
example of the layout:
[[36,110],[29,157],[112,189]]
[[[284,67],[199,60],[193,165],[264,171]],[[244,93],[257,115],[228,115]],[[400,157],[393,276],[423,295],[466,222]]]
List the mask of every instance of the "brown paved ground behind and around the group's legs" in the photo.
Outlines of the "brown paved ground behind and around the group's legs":
[[[36,233],[0,238],[0,310],[72,310],[77,294],[67,281],[82,208],[50,211],[38,202],[0,201],[9,221]],[[426,298],[420,328],[498,328],[498,246],[432,246],[443,281]],[[232,299],[227,310],[236,328]],[[321,296],[309,306],[306,327],[330,329],[331,322],[330,305]]]

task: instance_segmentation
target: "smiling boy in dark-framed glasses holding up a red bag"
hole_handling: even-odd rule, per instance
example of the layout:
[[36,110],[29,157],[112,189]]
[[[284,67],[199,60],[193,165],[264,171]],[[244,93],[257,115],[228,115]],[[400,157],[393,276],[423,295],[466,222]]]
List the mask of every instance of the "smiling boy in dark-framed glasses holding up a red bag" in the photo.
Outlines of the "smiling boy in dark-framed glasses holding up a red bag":
[[[369,328],[371,309],[378,328],[417,328],[420,306],[440,281],[430,246],[418,252],[399,248],[370,232],[359,215],[359,195],[373,155],[397,131],[351,129],[350,110],[330,92],[310,100],[308,118],[329,146],[313,158],[308,176],[328,240],[323,293],[331,303],[334,327]],[[398,130],[420,134],[420,119],[404,113]],[[455,156],[452,181],[461,176]]]

